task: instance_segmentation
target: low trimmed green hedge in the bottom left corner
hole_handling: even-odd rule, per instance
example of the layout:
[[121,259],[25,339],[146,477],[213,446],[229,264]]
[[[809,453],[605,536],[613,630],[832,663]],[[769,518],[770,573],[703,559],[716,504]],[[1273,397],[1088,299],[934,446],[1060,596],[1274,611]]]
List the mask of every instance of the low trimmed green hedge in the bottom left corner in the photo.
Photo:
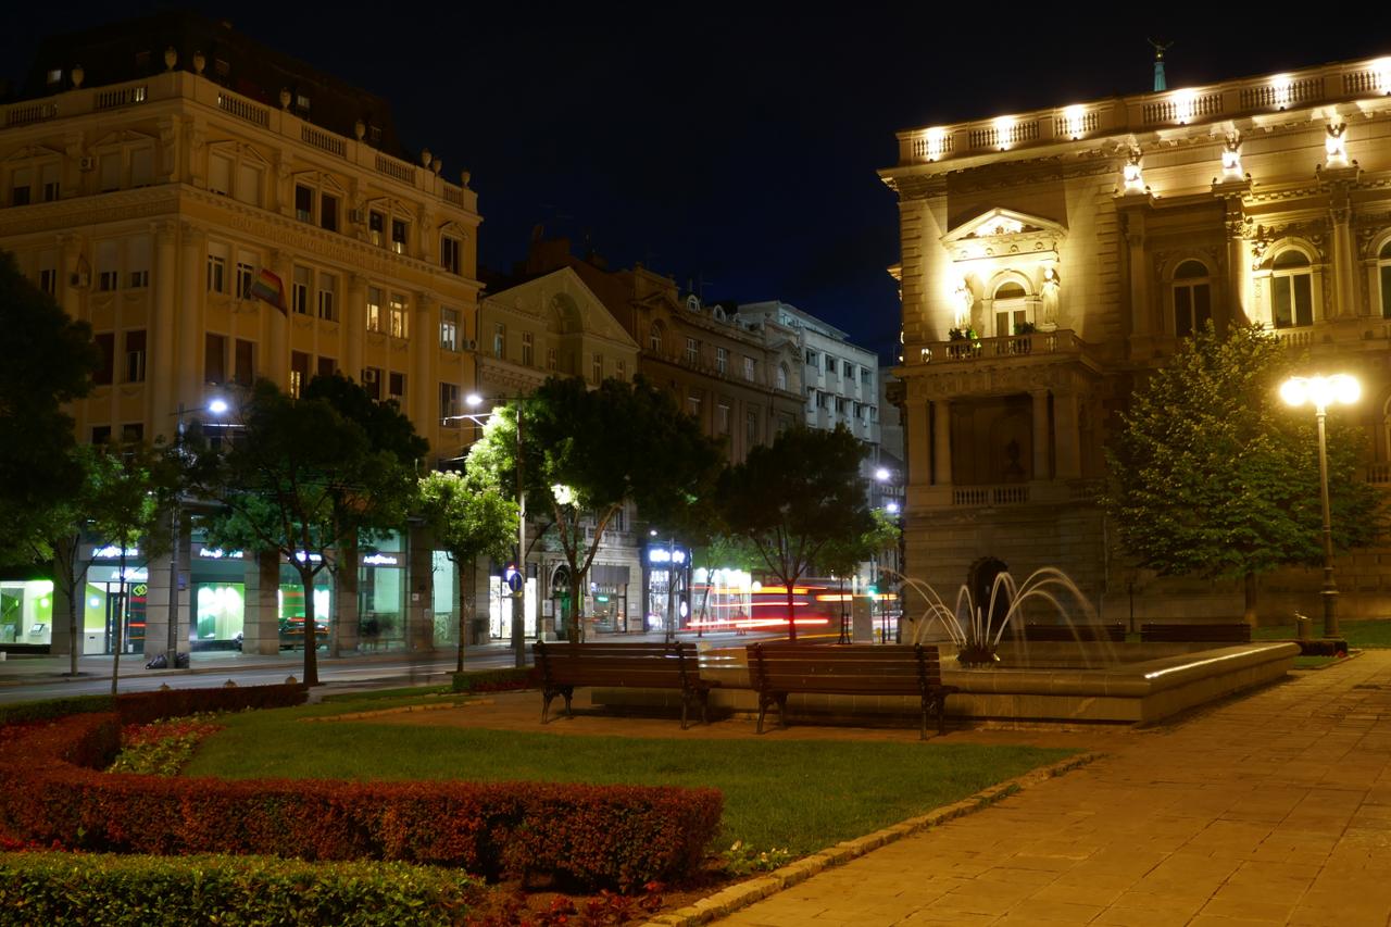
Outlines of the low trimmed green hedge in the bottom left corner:
[[405,863],[0,853],[0,924],[463,924],[481,882]]

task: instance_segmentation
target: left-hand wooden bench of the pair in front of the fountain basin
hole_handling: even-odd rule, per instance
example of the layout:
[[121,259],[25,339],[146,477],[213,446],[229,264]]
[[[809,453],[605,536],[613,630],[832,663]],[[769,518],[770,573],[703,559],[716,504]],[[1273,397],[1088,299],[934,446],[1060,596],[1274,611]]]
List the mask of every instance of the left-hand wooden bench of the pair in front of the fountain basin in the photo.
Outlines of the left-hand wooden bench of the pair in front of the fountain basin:
[[551,700],[565,696],[565,714],[576,686],[626,689],[679,689],[682,731],[693,702],[700,703],[701,721],[709,724],[709,690],[718,686],[700,678],[700,661],[691,643],[547,643],[533,646],[541,675],[541,724],[549,721]]

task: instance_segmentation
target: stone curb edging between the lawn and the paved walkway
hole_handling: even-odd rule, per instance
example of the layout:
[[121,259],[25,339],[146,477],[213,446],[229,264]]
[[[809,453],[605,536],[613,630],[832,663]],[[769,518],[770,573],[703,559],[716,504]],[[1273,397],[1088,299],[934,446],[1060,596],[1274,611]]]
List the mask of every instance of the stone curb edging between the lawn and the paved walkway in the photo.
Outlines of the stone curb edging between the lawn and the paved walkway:
[[1021,792],[1029,786],[1038,785],[1039,782],[1071,772],[1072,770],[1093,763],[1103,756],[1103,753],[1082,753],[1079,756],[1054,763],[1053,766],[1032,770],[1024,775],[1010,779],[1008,782],[992,785],[990,788],[976,792],[975,795],[961,799],[960,802],[944,805],[918,817],[910,817],[907,821],[893,824],[853,841],[842,841],[832,848],[823,849],[819,853],[812,853],[811,856],[800,859],[796,863],[789,863],[787,866],[773,870],[766,876],[739,882],[737,885],[730,885],[729,888],[715,892],[714,895],[701,898],[694,905],[654,917],[641,927],[696,927],[697,924],[708,924],[716,917],[726,917],[741,908],[747,908],[754,902],[759,902],[771,895],[776,895],[780,891],[804,882],[817,873],[830,869],[832,866],[843,866],[853,859],[858,859],[865,853],[876,850],[887,843],[897,842],[904,837],[912,837],[914,834],[926,831],[958,817],[965,817],[967,814],[974,814],[975,811],[983,811],[996,802],[1000,802],[1015,792]]

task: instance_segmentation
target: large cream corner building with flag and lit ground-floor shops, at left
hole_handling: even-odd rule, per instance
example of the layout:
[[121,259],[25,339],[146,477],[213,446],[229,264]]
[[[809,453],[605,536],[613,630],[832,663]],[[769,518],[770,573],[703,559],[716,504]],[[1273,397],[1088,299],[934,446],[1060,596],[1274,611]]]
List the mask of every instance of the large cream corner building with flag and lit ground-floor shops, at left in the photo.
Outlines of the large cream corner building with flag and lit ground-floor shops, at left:
[[[385,100],[225,24],[161,14],[43,42],[0,127],[0,248],[102,352],[72,408],[79,440],[172,440],[259,377],[298,393],[342,372],[396,399],[433,447],[455,441],[442,416],[476,376],[476,193],[428,152],[406,154]],[[357,644],[359,610],[391,629],[381,640],[428,643],[430,596],[406,604],[420,558],[406,547],[371,554],[338,643]],[[295,594],[275,565],[186,536],[181,554],[178,571],[131,578],[131,649],[138,632],[163,653],[206,631],[210,646],[273,651]],[[89,583],[88,651],[110,650],[100,612],[115,579]]]

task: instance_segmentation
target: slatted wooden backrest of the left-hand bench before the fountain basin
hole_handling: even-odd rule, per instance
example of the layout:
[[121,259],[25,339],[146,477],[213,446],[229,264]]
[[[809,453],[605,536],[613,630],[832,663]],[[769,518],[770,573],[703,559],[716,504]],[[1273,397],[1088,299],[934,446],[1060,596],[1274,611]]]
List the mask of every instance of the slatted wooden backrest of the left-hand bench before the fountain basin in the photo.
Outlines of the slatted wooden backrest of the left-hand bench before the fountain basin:
[[696,647],[680,643],[548,643],[531,646],[547,686],[684,688],[700,675]]

